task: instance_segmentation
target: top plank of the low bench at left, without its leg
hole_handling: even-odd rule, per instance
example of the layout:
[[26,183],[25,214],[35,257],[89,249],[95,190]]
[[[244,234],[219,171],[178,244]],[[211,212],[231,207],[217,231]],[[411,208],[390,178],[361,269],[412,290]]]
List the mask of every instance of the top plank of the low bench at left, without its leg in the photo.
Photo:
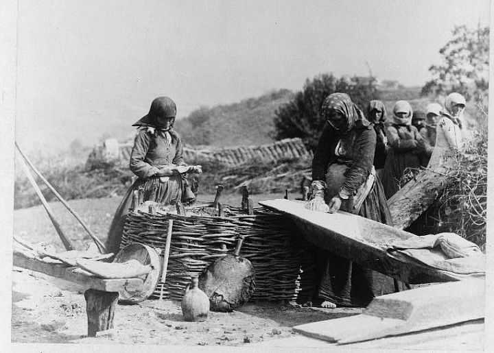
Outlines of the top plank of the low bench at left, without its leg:
[[67,267],[54,263],[45,263],[37,258],[26,258],[19,254],[13,256],[14,266],[30,269],[32,271],[45,273],[49,276],[61,278],[80,284],[84,289],[96,289],[104,292],[140,292],[143,289],[143,280],[140,278],[103,279],[97,278],[91,273],[83,271],[78,267]]

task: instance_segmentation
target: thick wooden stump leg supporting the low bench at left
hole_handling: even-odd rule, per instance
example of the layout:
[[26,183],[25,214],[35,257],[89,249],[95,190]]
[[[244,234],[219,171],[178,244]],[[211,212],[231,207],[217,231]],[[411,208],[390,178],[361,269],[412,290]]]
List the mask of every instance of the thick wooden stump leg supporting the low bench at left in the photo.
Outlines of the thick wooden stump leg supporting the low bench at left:
[[88,317],[88,337],[95,337],[96,332],[113,328],[113,317],[115,316],[118,297],[118,292],[104,292],[96,289],[88,289],[84,292]]

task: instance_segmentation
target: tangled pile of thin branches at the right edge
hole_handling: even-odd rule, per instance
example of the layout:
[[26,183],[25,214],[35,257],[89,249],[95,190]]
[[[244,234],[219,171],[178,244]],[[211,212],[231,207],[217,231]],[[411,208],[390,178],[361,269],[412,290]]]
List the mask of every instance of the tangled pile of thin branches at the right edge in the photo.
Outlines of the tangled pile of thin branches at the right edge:
[[[457,168],[447,173],[447,187],[425,213],[430,233],[454,232],[485,251],[487,212],[487,130],[473,132]],[[424,217],[421,217],[424,218]]]

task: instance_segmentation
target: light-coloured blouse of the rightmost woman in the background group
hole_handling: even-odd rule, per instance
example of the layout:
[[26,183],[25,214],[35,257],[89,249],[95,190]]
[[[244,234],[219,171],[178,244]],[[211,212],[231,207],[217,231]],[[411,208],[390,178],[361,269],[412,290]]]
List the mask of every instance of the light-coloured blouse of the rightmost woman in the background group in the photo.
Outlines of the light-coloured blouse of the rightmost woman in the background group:
[[436,127],[436,145],[427,168],[454,167],[454,151],[463,147],[462,130],[449,117],[443,115]]

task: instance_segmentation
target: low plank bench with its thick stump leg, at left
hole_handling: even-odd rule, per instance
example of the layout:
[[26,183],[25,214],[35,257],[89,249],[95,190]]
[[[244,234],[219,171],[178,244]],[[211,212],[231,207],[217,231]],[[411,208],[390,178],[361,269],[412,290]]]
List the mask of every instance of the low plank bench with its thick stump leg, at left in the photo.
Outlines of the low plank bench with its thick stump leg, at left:
[[95,337],[97,332],[113,328],[119,292],[137,293],[143,290],[144,281],[141,278],[98,278],[78,267],[48,263],[38,258],[27,258],[15,253],[13,260],[16,267],[74,282],[86,289],[84,298],[86,299],[89,337]]

